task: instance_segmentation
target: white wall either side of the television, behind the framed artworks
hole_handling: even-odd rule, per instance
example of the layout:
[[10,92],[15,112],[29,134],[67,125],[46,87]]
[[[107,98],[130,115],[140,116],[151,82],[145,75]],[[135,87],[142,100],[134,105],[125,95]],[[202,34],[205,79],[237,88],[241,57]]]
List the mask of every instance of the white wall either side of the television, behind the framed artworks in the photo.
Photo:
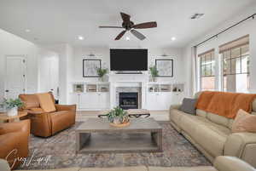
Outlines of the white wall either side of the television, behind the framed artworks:
[[[174,77],[160,77],[159,81],[183,82],[183,58],[181,48],[148,48],[148,66],[154,65],[154,59],[173,59]],[[89,57],[88,54],[96,57]],[[167,54],[168,56],[161,56]],[[97,81],[97,78],[83,77],[83,59],[102,59],[102,67],[110,68],[109,48],[74,48],[72,82]]]

